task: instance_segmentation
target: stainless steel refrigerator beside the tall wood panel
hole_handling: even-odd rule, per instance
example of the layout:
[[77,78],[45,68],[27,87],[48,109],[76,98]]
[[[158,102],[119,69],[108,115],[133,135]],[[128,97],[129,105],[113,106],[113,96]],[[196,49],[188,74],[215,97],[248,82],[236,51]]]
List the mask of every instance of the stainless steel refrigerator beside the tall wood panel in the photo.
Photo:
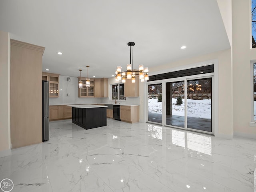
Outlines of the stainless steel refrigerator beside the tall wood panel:
[[49,82],[42,81],[43,141],[49,140]]

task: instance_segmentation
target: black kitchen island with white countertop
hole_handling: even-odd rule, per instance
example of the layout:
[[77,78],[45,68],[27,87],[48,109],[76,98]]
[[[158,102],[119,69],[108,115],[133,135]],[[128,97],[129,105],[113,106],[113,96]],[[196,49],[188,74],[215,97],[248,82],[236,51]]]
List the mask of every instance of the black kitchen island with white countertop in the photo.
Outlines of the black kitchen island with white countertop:
[[69,106],[72,107],[72,123],[84,129],[107,125],[107,106],[91,104]]

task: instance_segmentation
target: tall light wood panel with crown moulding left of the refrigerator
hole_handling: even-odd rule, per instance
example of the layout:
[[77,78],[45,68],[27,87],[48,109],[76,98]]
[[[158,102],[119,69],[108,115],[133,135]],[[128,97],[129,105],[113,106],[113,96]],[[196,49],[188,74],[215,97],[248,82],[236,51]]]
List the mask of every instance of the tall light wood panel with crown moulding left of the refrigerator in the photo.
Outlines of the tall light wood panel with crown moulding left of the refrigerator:
[[[9,37],[8,42],[10,43],[8,45],[8,59],[10,62],[10,76],[8,75],[10,80],[10,93],[8,93],[10,94],[10,103],[8,102],[8,105],[10,105],[10,143],[13,149],[42,142],[41,75],[44,47],[20,42]],[[0,44],[2,46],[5,42],[1,41]],[[5,50],[1,49],[1,54],[4,53]],[[1,61],[4,60],[5,58],[1,58]],[[1,62],[0,65],[1,70],[4,69],[2,66],[5,64]],[[21,86],[23,82],[25,86]],[[1,90],[3,89],[2,85]],[[4,134],[2,132],[3,125],[1,122],[0,134]],[[8,134],[2,135],[3,137],[8,137]]]

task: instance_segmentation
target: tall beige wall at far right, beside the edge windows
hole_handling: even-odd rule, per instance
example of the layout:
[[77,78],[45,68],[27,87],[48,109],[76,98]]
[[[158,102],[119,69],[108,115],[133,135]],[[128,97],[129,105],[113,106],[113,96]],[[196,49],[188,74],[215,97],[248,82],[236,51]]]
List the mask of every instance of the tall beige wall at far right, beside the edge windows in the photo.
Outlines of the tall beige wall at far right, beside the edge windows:
[[233,113],[234,133],[256,138],[256,127],[249,126],[252,105],[252,71],[256,48],[250,48],[250,0],[232,0],[233,20]]

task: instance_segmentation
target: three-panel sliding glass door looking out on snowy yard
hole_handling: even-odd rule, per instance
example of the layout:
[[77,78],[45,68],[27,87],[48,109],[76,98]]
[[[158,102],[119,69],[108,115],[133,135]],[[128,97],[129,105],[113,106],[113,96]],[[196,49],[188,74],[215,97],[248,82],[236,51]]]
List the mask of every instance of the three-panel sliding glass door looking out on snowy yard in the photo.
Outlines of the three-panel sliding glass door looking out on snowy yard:
[[148,84],[148,122],[212,133],[212,77],[199,77]]

